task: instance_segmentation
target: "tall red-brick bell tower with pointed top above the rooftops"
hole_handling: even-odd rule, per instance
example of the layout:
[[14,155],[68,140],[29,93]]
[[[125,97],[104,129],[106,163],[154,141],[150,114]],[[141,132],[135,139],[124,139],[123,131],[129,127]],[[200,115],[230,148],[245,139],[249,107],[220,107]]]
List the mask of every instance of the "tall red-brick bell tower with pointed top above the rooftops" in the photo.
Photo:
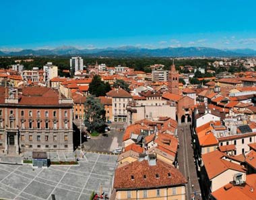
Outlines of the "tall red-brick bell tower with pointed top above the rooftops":
[[174,59],[172,59],[172,65],[170,66],[168,79],[169,92],[173,94],[179,94],[179,71],[176,71],[174,65]]

